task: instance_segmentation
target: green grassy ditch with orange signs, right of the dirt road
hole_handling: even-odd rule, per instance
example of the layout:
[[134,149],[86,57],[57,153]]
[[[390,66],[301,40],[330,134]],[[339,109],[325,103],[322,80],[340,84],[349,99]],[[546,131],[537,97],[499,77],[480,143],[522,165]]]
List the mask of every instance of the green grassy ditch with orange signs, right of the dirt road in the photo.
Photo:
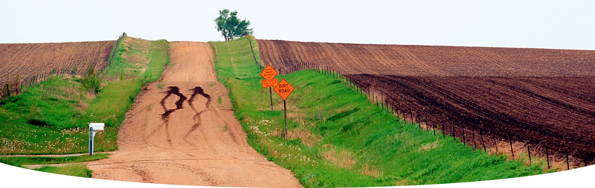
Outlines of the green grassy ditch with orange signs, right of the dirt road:
[[292,170],[305,187],[443,184],[546,173],[543,164],[489,155],[411,126],[340,79],[315,71],[276,77],[296,88],[286,101],[289,133],[284,138],[283,101],[273,93],[271,110],[248,40],[210,43],[218,79],[230,89],[248,143]]

